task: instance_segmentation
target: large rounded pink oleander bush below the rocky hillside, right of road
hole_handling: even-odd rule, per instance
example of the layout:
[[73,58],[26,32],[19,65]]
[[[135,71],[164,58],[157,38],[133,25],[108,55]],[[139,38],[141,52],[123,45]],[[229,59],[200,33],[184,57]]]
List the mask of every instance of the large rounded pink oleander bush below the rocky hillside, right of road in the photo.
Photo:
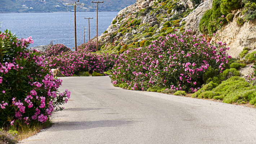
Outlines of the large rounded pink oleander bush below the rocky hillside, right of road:
[[160,86],[173,90],[197,91],[203,73],[211,66],[219,72],[228,58],[226,44],[210,45],[203,36],[168,34],[151,45],[120,54],[112,69],[114,85],[125,83],[133,90]]

